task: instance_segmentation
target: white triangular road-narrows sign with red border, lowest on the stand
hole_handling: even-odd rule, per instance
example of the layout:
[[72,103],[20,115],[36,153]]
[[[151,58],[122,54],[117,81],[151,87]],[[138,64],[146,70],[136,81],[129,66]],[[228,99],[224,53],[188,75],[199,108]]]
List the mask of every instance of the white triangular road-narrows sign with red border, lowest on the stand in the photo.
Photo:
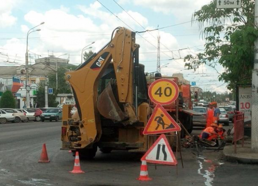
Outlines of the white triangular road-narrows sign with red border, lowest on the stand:
[[141,158],[149,163],[177,165],[177,160],[169,146],[168,140],[164,134],[155,141],[148,151]]

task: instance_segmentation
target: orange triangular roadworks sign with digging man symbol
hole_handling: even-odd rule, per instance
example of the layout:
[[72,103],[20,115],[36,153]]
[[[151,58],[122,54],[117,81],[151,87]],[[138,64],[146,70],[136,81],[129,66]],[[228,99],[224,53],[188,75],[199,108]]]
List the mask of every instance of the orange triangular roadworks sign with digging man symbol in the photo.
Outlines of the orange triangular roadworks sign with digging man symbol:
[[175,131],[181,131],[180,126],[160,104],[157,104],[143,134],[162,134]]

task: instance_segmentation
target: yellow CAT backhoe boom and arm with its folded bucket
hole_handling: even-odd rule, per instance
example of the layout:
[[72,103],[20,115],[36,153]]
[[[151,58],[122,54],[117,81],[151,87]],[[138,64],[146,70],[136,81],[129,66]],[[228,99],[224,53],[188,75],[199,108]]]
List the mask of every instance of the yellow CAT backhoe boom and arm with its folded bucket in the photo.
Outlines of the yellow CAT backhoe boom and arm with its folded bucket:
[[[71,127],[67,134],[73,148],[85,148],[100,140],[100,115],[116,121],[126,120],[128,124],[137,121],[132,85],[134,58],[138,56],[139,45],[135,43],[135,33],[127,28],[119,27],[114,32],[114,38],[104,48],[90,56],[75,71],[66,72],[79,116],[68,121]],[[138,62],[137,59],[135,61]],[[117,86],[117,97],[114,97],[110,84],[100,95],[98,93],[98,82],[111,64],[116,77],[113,83]]]

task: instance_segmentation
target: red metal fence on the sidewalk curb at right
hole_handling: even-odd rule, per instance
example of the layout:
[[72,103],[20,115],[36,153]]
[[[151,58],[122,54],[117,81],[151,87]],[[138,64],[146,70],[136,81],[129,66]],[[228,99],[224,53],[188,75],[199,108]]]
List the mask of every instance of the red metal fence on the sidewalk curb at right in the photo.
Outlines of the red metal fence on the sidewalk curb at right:
[[234,153],[236,153],[236,143],[239,140],[242,140],[242,147],[244,147],[244,113],[237,112],[234,115]]

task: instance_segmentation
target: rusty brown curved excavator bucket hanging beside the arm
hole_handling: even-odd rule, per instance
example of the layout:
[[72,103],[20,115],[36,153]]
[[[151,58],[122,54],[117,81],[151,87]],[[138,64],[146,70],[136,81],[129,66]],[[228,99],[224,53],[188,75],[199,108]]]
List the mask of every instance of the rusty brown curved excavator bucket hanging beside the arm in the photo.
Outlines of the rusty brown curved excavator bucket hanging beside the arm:
[[97,108],[100,114],[105,118],[116,121],[125,119],[125,114],[117,104],[110,83],[108,83],[107,87],[99,95]]

